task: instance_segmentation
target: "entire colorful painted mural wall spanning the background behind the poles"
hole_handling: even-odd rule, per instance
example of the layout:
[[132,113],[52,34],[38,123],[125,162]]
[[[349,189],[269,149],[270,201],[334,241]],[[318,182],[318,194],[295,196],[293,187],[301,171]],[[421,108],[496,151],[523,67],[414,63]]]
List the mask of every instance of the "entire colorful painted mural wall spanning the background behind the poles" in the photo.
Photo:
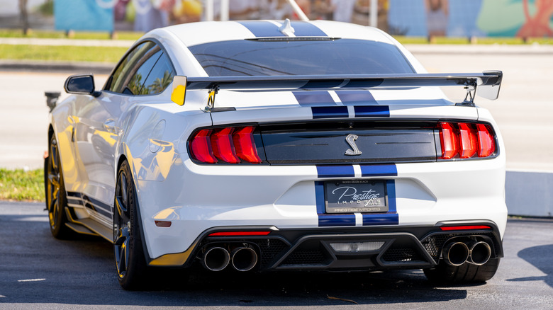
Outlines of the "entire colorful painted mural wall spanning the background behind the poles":
[[[296,0],[311,19],[367,25],[370,0]],[[200,21],[203,0],[55,0],[58,30],[147,31]],[[216,4],[218,14],[219,0]],[[553,37],[553,0],[378,0],[379,28],[418,37]],[[230,19],[294,18],[285,0],[230,0]],[[116,29],[115,29],[116,30]]]

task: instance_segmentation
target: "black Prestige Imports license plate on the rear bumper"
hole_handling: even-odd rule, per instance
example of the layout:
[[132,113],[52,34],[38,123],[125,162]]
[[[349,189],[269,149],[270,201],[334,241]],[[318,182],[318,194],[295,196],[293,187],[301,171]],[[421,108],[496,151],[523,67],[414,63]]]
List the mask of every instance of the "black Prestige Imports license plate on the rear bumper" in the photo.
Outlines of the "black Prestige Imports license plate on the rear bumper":
[[327,213],[388,212],[383,180],[339,180],[325,182]]

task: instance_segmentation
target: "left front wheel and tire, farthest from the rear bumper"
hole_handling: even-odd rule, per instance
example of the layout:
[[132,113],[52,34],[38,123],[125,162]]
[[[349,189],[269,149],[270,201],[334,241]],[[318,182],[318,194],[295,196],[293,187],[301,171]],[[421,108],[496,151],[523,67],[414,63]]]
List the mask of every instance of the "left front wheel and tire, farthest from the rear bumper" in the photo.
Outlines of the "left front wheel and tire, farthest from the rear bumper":
[[48,144],[48,157],[44,160],[45,200],[50,231],[52,232],[52,236],[57,239],[72,239],[75,233],[65,225],[68,222],[65,215],[67,197],[60,163],[59,148],[55,135],[52,134],[50,143]]

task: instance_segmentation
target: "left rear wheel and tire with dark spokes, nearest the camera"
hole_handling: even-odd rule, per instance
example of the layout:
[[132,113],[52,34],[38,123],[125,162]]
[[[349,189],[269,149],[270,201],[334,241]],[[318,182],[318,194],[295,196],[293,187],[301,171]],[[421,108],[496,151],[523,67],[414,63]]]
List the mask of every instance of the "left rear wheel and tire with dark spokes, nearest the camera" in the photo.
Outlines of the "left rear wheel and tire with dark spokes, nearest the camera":
[[113,250],[119,284],[123,289],[143,289],[149,275],[140,236],[135,185],[127,161],[117,173],[114,203]]

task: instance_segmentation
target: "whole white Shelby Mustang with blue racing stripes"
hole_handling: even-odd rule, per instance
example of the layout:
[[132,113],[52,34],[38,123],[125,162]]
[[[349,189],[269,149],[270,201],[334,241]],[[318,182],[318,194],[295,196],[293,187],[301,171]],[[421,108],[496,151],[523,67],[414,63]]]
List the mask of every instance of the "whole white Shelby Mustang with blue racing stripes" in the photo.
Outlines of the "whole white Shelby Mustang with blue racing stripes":
[[[152,30],[50,113],[50,229],[113,242],[119,282],[208,270],[422,268],[503,257],[501,71],[428,74],[375,28],[232,21]],[[449,101],[439,87],[466,98]]]

